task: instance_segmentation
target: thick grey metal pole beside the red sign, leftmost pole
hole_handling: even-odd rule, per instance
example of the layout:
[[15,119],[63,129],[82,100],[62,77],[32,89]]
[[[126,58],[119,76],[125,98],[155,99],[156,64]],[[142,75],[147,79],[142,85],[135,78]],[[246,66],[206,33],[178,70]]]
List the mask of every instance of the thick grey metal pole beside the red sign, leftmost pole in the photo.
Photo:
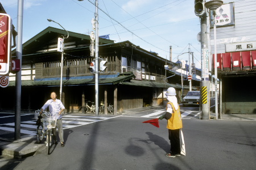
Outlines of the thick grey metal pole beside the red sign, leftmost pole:
[[23,27],[23,0],[18,1],[17,16],[17,46],[16,57],[20,59],[20,71],[15,76],[16,105],[15,105],[15,139],[20,139],[20,103],[21,103],[21,73],[22,73],[22,27]]

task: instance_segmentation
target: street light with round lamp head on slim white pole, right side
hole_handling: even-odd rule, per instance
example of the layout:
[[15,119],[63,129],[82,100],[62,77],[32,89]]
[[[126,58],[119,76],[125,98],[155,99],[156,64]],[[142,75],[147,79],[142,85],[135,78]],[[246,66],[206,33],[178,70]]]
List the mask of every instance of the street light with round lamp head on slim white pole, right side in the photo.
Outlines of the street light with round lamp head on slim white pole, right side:
[[223,1],[213,0],[205,3],[205,7],[213,11],[213,34],[214,34],[214,76],[215,76],[215,115],[218,119],[218,94],[217,94],[217,44],[216,44],[216,23],[215,15],[218,7],[222,5]]

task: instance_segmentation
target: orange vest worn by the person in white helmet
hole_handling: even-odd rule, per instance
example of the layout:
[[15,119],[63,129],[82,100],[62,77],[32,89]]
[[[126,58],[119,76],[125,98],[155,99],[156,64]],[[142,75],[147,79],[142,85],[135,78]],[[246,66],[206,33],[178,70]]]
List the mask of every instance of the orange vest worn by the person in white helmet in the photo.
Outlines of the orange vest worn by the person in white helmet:
[[[168,102],[168,104],[171,104],[172,106],[172,117],[167,120],[167,129],[175,130],[175,129],[180,129],[182,128],[182,121],[181,121],[181,114],[180,114],[180,106],[178,105],[178,109],[175,110],[174,104],[171,102]],[[166,109],[167,109],[166,105]]]

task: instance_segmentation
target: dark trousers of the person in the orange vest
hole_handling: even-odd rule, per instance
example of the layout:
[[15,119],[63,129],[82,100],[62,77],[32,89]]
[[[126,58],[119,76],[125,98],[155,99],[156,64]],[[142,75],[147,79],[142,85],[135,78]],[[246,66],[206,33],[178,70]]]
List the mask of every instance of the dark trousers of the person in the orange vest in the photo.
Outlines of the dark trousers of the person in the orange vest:
[[169,139],[171,142],[170,152],[172,155],[180,154],[180,129],[169,130]]

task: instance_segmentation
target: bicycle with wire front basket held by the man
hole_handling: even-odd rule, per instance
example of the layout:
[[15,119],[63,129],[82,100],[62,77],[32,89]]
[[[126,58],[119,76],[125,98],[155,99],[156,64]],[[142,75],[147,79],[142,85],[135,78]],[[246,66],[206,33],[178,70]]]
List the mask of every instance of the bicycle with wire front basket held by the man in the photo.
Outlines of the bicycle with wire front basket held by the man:
[[[35,111],[35,119],[38,120],[38,116],[40,115],[40,110]],[[56,122],[58,114],[52,114],[46,111],[43,111],[41,114],[42,118],[40,124],[36,128],[36,141],[40,143],[43,138],[46,138],[46,147],[47,154],[50,154],[51,142],[52,142],[52,129],[56,128]]]

